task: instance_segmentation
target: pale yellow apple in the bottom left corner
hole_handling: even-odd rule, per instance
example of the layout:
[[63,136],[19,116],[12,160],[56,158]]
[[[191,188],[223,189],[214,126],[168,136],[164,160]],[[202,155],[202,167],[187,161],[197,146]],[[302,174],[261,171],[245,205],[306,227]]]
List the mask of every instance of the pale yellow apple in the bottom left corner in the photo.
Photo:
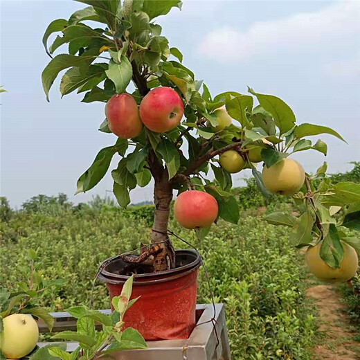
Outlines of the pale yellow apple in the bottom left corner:
[[39,338],[36,321],[26,314],[12,314],[3,319],[0,350],[10,359],[20,359],[31,352]]

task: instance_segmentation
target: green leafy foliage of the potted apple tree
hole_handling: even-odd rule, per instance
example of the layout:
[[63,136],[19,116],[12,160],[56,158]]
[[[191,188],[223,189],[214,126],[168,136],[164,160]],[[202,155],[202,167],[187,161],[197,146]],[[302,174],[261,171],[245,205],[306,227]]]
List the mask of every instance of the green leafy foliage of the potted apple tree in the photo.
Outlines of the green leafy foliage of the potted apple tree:
[[[69,20],[53,21],[44,34],[43,43],[51,55],[60,46],[69,44],[68,53],[53,57],[42,73],[47,98],[57,75],[69,69],[62,75],[62,95],[75,90],[87,91],[83,102],[104,102],[116,93],[128,91],[132,82],[136,88],[132,95],[140,104],[150,89],[171,87],[181,96],[185,118],[181,125],[170,132],[155,134],[143,129],[139,136],[130,141],[119,138],[115,145],[100,150],[93,164],[78,180],[77,193],[96,186],[109,170],[113,156],[120,155],[118,168],[112,170],[111,174],[114,194],[123,208],[130,204],[131,190],[136,186],[146,186],[152,176],[156,177],[156,172],[167,171],[168,188],[177,188],[181,192],[186,190],[183,183],[187,181],[210,193],[217,200],[219,217],[236,224],[240,219],[240,208],[229,192],[231,175],[217,167],[215,156],[226,150],[237,151],[252,169],[256,186],[268,198],[269,192],[261,173],[249,163],[246,146],[256,145],[258,141],[264,143],[260,155],[264,165],[269,168],[295,152],[316,150],[326,155],[327,144],[321,139],[313,144],[308,136],[330,134],[344,141],[330,127],[296,124],[294,111],[277,96],[258,93],[251,88],[248,88],[248,95],[226,91],[211,96],[206,84],[197,80],[195,74],[183,65],[181,51],[169,46],[168,39],[161,35],[161,26],[154,20],[168,14],[172,8],[181,8],[181,1],[79,2],[89,6],[75,12]],[[99,27],[84,24],[89,19],[96,21]],[[53,33],[61,34],[48,47],[48,38]],[[255,100],[258,104],[254,106]],[[218,131],[219,121],[214,111],[219,107],[225,107],[237,125],[231,124]],[[100,131],[110,133],[107,120],[100,125]],[[129,143],[135,145],[133,151],[127,151]],[[186,145],[188,154],[183,151]],[[210,165],[215,174],[213,181],[204,178]],[[346,206],[360,201],[360,190],[359,186],[350,182],[331,184],[326,181],[324,174],[325,170],[319,168],[317,174],[307,176],[307,188],[295,195],[298,203],[308,206],[305,213],[294,221],[291,239],[296,246],[314,245],[324,240],[322,258],[330,266],[339,267],[342,246],[334,240],[338,238],[337,228],[330,231],[330,225],[358,228],[358,213],[348,213],[340,224],[330,213],[330,207],[340,206],[345,210]],[[161,176],[158,174],[157,177]],[[312,185],[313,181],[316,183],[319,179],[321,183]],[[163,186],[159,185],[159,181],[155,184]],[[316,191],[313,192],[314,188]],[[288,215],[284,217],[289,220]],[[333,236],[329,235],[329,231]],[[334,261],[325,246],[336,248],[336,244],[339,245],[339,258]]]

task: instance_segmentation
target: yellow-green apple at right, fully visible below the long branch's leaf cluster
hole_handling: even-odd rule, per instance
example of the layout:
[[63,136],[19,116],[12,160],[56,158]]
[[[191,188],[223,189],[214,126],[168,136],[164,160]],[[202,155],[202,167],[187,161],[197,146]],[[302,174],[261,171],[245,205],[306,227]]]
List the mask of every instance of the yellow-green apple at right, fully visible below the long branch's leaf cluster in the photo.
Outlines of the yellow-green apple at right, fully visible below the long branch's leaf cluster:
[[264,165],[262,181],[265,188],[273,194],[294,195],[303,186],[305,171],[298,161],[286,158],[270,168]]

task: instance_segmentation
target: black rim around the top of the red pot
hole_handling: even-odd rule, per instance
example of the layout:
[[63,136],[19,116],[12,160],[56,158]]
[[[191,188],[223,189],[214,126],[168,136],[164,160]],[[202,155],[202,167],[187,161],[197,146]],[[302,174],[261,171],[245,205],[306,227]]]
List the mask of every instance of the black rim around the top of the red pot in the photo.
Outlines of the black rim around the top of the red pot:
[[[177,278],[181,278],[182,276],[186,276],[188,273],[192,273],[193,271],[197,270],[201,265],[201,258],[199,253],[195,250],[183,249],[175,251],[176,255],[195,255],[195,260],[190,262],[189,264],[182,265],[181,267],[175,267],[174,269],[159,271],[158,273],[141,273],[134,275],[134,285],[149,285],[158,282],[165,282],[174,280]],[[111,260],[111,258],[102,262],[105,264],[111,264],[116,260]],[[108,265],[107,264],[107,265]],[[106,266],[100,272],[98,279],[102,282],[109,283],[109,284],[116,284],[121,285],[123,284],[129,276],[120,275],[117,273],[111,273],[105,270]],[[147,280],[149,279],[149,280]],[[147,281],[146,281],[147,280]]]

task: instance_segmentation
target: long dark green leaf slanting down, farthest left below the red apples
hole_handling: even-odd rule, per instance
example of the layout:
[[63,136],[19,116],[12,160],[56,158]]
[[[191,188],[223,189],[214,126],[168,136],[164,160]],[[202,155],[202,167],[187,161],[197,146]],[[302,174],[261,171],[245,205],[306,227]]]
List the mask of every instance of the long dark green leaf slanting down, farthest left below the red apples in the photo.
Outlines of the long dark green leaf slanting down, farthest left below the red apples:
[[92,189],[105,176],[111,159],[116,152],[116,146],[104,147],[98,152],[90,168],[78,179],[77,187],[79,192],[86,192]]

